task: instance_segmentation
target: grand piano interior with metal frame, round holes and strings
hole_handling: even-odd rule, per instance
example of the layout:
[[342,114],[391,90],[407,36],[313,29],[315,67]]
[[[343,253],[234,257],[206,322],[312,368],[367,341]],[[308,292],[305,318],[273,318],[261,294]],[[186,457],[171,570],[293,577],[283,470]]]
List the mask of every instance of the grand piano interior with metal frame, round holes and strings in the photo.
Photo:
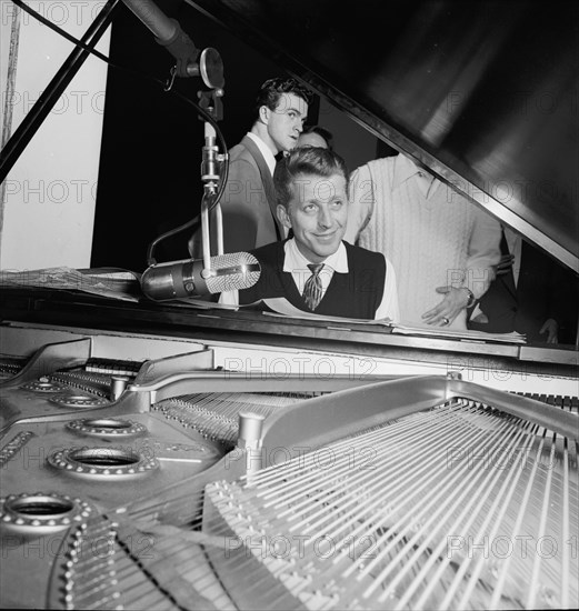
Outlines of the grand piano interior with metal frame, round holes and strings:
[[280,380],[182,339],[6,332],[2,607],[579,602],[577,393]]

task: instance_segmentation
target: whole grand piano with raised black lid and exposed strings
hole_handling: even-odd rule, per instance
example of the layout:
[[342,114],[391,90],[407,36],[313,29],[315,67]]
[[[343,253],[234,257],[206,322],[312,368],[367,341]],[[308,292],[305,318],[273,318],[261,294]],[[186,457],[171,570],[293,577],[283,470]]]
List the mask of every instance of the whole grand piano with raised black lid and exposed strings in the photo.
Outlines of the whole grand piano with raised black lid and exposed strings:
[[[556,7],[179,17],[274,58],[577,273],[577,9]],[[3,608],[578,607],[577,345],[136,294],[1,291]]]

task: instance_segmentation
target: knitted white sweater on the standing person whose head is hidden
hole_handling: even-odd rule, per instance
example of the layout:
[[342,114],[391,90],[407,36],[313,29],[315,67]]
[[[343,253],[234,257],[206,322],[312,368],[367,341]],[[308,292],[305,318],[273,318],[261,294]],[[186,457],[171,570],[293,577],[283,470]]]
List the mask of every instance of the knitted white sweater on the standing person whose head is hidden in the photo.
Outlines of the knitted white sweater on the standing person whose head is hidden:
[[[390,259],[401,321],[413,325],[442,301],[437,287],[465,286],[480,298],[500,259],[500,224],[439,180],[429,182],[400,154],[370,161],[350,181],[345,239]],[[451,327],[466,329],[466,310]]]

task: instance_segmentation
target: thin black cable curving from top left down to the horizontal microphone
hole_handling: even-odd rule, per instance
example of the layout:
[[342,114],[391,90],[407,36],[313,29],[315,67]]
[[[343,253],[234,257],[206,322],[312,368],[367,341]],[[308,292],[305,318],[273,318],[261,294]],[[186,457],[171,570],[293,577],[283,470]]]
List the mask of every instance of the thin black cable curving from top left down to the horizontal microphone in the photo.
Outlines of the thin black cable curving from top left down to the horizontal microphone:
[[[229,156],[228,156],[228,150],[227,150],[227,143],[226,143],[226,139],[223,137],[223,133],[221,132],[221,129],[219,128],[217,121],[213,119],[213,117],[207,112],[203,108],[201,108],[199,104],[197,104],[196,102],[193,102],[193,100],[187,98],[186,96],[183,96],[182,93],[179,93],[178,91],[176,91],[174,89],[170,89],[170,90],[167,90],[166,89],[166,83],[163,83],[162,81],[160,81],[159,79],[157,79],[156,77],[152,77],[151,74],[147,74],[146,72],[141,72],[140,70],[134,70],[132,68],[127,68],[126,66],[120,66],[118,63],[114,63],[113,61],[110,60],[110,58],[108,58],[107,56],[102,54],[100,51],[97,51],[96,49],[93,49],[92,47],[89,47],[88,44],[84,44],[84,42],[82,42],[81,40],[78,40],[77,38],[74,38],[73,36],[69,34],[66,30],[63,30],[62,28],[59,28],[57,24],[52,23],[51,21],[49,21],[47,18],[42,17],[40,13],[38,13],[37,11],[34,11],[33,9],[31,9],[28,4],[26,4],[22,0],[12,0],[12,2],[19,7],[20,9],[22,9],[24,12],[29,13],[31,17],[33,17],[36,20],[38,20],[40,23],[42,23],[43,26],[47,26],[48,28],[50,28],[52,31],[57,32],[59,36],[61,36],[62,38],[67,39],[69,42],[72,42],[73,44],[76,44],[77,47],[80,47],[81,49],[83,49],[84,51],[88,51],[89,53],[93,54],[94,57],[97,57],[98,59],[100,59],[101,61],[103,61],[104,63],[107,63],[108,66],[110,66],[111,68],[114,68],[116,70],[120,70],[120,71],[124,71],[124,72],[128,72],[129,74],[132,74],[132,76],[136,76],[136,77],[140,77],[144,80],[149,80],[149,81],[152,81],[154,82],[156,84],[160,84],[163,89],[163,91],[167,91],[173,96],[176,96],[179,100],[188,103],[188,104],[191,104],[196,110],[197,112],[199,112],[199,114],[201,114],[201,117],[206,120],[206,121],[209,121],[211,123],[211,126],[214,128],[216,130],[216,134],[217,137],[219,138],[219,141],[220,141],[220,144],[221,144],[221,149],[223,151],[223,158],[224,158],[224,163],[223,163],[223,176],[221,178],[221,180],[219,181],[219,187],[218,187],[218,191],[213,198],[213,201],[210,202],[209,204],[209,208],[208,208],[208,212],[211,212],[211,210],[213,210],[213,208],[219,203],[219,201],[221,200],[221,196],[223,194],[223,191],[224,191],[224,187],[226,187],[226,182],[227,182],[227,179],[228,179],[228,176],[229,176]],[[204,201],[204,196],[203,196],[203,201]],[[157,247],[157,244],[159,242],[161,242],[162,240],[167,239],[167,238],[170,238],[171,236],[174,236],[176,233],[180,233],[181,231],[184,231],[186,229],[190,228],[190,227],[196,227],[197,224],[199,224],[199,221],[200,221],[200,214],[197,214],[197,217],[194,217],[193,219],[191,219],[190,221],[187,221],[186,223],[174,228],[174,229],[171,229],[169,231],[166,231],[164,233],[162,233],[161,236],[159,236],[158,238],[156,238],[148,247],[147,249],[147,264],[148,266],[153,266],[154,263],[157,263],[157,261],[154,260],[153,258],[153,251],[154,251],[154,248]]]

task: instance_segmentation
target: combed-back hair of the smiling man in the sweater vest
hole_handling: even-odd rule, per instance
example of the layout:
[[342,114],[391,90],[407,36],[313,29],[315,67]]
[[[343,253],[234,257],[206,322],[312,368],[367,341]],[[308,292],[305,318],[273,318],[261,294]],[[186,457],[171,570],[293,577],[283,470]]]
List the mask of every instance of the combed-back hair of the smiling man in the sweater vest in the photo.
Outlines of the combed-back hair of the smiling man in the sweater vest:
[[302,176],[330,178],[341,174],[349,182],[349,172],[343,159],[329,149],[305,147],[290,151],[278,161],[273,172],[273,184],[278,203],[288,207],[293,194],[293,183]]

